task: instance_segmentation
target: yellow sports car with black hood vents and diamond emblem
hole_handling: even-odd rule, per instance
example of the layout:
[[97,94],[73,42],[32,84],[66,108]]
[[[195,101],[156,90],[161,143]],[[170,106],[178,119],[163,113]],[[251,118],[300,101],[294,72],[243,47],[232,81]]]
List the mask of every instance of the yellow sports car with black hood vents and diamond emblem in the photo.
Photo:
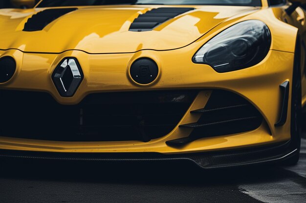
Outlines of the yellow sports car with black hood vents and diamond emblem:
[[1,9],[0,157],[297,163],[305,2],[41,0]]

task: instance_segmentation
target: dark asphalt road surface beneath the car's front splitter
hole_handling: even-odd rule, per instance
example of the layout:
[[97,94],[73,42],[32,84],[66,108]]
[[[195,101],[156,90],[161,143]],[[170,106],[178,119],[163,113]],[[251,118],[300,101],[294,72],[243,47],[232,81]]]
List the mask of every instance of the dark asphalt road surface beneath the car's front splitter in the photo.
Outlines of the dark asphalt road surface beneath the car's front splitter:
[[180,163],[3,165],[0,203],[306,203],[306,139],[293,167],[203,172]]

